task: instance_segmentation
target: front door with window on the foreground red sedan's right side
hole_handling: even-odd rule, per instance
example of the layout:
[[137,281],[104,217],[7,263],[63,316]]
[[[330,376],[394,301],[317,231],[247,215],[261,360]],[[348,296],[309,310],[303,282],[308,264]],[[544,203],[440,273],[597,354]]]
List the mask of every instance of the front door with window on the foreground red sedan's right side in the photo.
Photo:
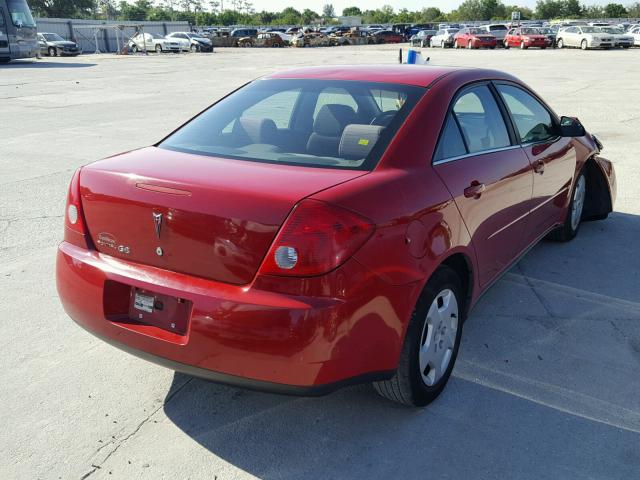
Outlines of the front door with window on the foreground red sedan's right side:
[[573,139],[561,137],[547,107],[530,92],[513,84],[496,85],[513,119],[515,132],[533,167],[533,197],[527,227],[529,244],[564,218],[576,170]]

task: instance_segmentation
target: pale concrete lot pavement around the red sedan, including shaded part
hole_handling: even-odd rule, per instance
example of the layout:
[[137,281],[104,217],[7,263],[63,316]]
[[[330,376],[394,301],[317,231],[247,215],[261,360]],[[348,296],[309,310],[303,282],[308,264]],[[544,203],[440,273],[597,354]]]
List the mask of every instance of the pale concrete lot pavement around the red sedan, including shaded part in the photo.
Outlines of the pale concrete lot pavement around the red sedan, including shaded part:
[[308,399],[174,374],[77,327],[54,283],[76,167],[151,144],[265,73],[394,63],[396,47],[0,67],[0,478],[637,478],[640,49],[426,52],[507,70],[577,115],[619,190],[608,220],[536,246],[482,299],[454,377],[423,410],[369,386]]

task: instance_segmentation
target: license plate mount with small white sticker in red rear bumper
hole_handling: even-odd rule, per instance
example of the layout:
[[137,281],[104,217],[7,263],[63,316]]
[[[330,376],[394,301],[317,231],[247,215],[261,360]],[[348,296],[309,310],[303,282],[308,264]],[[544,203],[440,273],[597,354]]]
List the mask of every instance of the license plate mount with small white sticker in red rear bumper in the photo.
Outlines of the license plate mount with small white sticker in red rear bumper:
[[178,335],[187,333],[191,302],[183,298],[132,287],[129,319]]

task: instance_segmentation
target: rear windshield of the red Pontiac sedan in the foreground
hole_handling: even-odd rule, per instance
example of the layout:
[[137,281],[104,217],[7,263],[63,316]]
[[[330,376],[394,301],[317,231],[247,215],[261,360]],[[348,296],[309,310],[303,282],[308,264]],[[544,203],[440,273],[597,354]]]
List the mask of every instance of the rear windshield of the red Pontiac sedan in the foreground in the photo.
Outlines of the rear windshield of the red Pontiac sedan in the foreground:
[[425,91],[387,83],[258,80],[158,147],[255,162],[371,170]]

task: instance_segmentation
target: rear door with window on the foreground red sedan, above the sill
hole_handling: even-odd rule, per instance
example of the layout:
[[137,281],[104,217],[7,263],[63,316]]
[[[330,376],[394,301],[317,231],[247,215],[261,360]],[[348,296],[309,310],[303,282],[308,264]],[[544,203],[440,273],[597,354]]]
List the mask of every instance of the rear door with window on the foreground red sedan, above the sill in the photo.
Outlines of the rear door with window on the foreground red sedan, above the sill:
[[499,105],[489,84],[462,90],[433,162],[471,235],[481,285],[522,249],[533,183],[529,160]]

